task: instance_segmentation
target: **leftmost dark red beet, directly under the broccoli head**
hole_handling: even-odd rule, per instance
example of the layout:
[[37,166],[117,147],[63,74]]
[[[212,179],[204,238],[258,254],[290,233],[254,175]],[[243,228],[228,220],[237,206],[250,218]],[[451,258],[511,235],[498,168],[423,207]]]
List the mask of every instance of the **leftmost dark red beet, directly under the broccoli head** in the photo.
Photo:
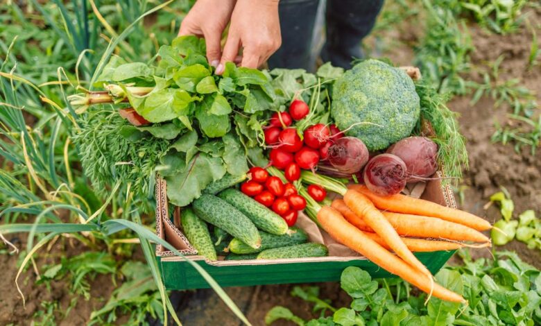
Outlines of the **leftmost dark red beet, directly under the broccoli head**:
[[342,137],[329,147],[328,159],[338,171],[357,173],[368,162],[368,148],[357,137]]

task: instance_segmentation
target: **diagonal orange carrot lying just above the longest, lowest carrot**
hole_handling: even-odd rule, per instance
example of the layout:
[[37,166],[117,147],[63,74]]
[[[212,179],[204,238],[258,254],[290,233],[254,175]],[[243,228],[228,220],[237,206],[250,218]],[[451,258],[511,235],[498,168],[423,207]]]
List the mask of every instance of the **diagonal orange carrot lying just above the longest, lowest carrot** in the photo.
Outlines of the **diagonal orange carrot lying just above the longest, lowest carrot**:
[[384,239],[388,246],[406,263],[417,268],[425,275],[432,274],[429,272],[426,266],[424,266],[415,255],[408,249],[404,241],[400,239],[393,225],[390,225],[389,221],[385,218],[379,210],[372,204],[368,197],[363,194],[349,190],[344,194],[344,202],[347,207],[350,207],[352,212],[357,216],[361,216],[363,220],[374,230],[381,239]]

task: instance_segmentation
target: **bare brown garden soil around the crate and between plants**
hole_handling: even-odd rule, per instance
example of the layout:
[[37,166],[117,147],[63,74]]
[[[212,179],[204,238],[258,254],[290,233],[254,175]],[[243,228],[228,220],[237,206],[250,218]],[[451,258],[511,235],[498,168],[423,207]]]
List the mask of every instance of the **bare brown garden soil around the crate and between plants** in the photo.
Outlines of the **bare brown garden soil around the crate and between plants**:
[[[541,21],[541,10],[531,10],[529,16],[532,22]],[[391,51],[385,55],[398,65],[411,65],[413,53],[411,44],[415,44],[418,37],[414,22],[404,22],[395,31],[385,32],[386,37],[393,40]],[[410,25],[410,26],[409,26]],[[400,31],[410,31],[400,33]],[[481,28],[470,28],[476,51],[472,53],[474,65],[486,65],[493,62],[499,55],[505,55],[501,64],[501,80],[519,78],[522,84],[533,90],[541,103],[541,69],[526,69],[527,57],[532,35],[527,28],[513,35],[494,35],[483,31]],[[541,31],[538,31],[541,35]],[[382,37],[384,40],[386,37]],[[470,79],[481,81],[481,74],[472,71]],[[490,137],[495,132],[494,122],[501,124],[513,123],[507,121],[506,112],[509,108],[501,105],[493,108],[494,102],[488,98],[482,98],[475,105],[470,104],[471,96],[456,97],[449,103],[449,108],[461,114],[460,122],[462,132],[467,138],[467,150],[470,154],[470,170],[465,172],[465,178],[461,191],[463,201],[458,196],[458,204],[463,208],[479,216],[486,216],[491,223],[501,218],[496,207],[488,209],[483,207],[491,194],[505,187],[515,202],[515,214],[526,209],[535,209],[541,212],[541,151],[532,155],[529,148],[523,148],[518,153],[513,146],[492,144]],[[24,243],[17,243],[19,248]],[[71,249],[70,249],[71,248]],[[501,248],[500,248],[501,249]],[[504,246],[504,249],[515,250],[522,259],[541,268],[541,254],[526,248],[523,243],[513,241]],[[76,249],[64,243],[53,246],[50,252],[58,252],[58,255],[70,255],[69,252]],[[71,252],[72,254],[74,252]],[[472,250],[476,257],[490,257],[488,250]],[[457,262],[456,258],[451,263]],[[42,266],[45,261],[37,261],[37,266]],[[35,284],[35,273],[32,268],[22,274],[19,284],[26,297],[26,307],[23,307],[21,297],[15,288],[15,275],[17,273],[17,258],[15,255],[0,255],[0,268],[3,272],[0,277],[0,325],[14,323],[15,325],[29,325],[31,317],[39,307],[40,302],[60,302],[61,311],[70,306],[69,286],[66,281],[51,282],[51,288],[47,289],[44,284]],[[110,277],[96,277],[89,282],[91,285],[91,299],[78,298],[72,311],[60,325],[84,325],[93,310],[101,307],[109,298],[114,289]],[[119,283],[117,283],[118,285]],[[338,282],[320,284],[307,284],[319,286],[320,297],[327,298],[337,307],[346,306],[349,297],[340,289]],[[264,325],[266,312],[275,305],[288,307],[301,318],[314,318],[311,313],[312,304],[307,304],[300,298],[293,298],[290,293],[293,284],[265,285],[249,287],[232,287],[225,291],[237,302],[239,308],[248,316],[254,325]],[[173,306],[178,311],[180,320],[185,325],[241,325],[239,320],[232,314],[218,296],[209,289],[198,291],[174,291],[171,295]],[[59,316],[58,316],[59,317]],[[278,322],[273,325],[289,325]]]

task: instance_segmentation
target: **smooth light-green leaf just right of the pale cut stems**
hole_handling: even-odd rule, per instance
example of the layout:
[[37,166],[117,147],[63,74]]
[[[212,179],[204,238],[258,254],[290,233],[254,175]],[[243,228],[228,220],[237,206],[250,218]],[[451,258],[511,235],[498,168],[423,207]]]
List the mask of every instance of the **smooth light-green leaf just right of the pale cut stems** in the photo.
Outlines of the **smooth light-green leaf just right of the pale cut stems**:
[[153,91],[146,96],[143,108],[134,108],[142,117],[154,123],[175,119],[178,114],[173,109],[173,103],[177,92],[179,90],[173,88]]

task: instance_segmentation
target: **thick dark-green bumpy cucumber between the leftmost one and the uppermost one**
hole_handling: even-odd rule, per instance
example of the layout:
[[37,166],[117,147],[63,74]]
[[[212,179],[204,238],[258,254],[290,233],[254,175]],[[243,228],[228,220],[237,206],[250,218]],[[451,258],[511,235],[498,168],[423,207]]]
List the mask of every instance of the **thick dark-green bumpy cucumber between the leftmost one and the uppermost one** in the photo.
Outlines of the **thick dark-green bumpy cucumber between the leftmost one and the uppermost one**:
[[250,218],[225,200],[213,195],[203,194],[191,204],[196,214],[235,238],[241,239],[252,248],[261,246],[259,231]]

